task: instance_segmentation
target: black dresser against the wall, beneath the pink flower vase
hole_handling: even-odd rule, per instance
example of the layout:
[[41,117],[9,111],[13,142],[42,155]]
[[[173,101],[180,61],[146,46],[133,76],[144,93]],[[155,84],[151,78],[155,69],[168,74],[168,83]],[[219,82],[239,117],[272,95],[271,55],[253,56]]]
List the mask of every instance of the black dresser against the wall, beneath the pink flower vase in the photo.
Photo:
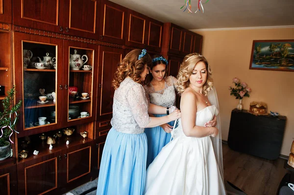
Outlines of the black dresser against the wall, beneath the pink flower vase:
[[255,116],[245,109],[233,109],[228,146],[238,152],[276,159],[280,154],[285,125],[286,116]]

